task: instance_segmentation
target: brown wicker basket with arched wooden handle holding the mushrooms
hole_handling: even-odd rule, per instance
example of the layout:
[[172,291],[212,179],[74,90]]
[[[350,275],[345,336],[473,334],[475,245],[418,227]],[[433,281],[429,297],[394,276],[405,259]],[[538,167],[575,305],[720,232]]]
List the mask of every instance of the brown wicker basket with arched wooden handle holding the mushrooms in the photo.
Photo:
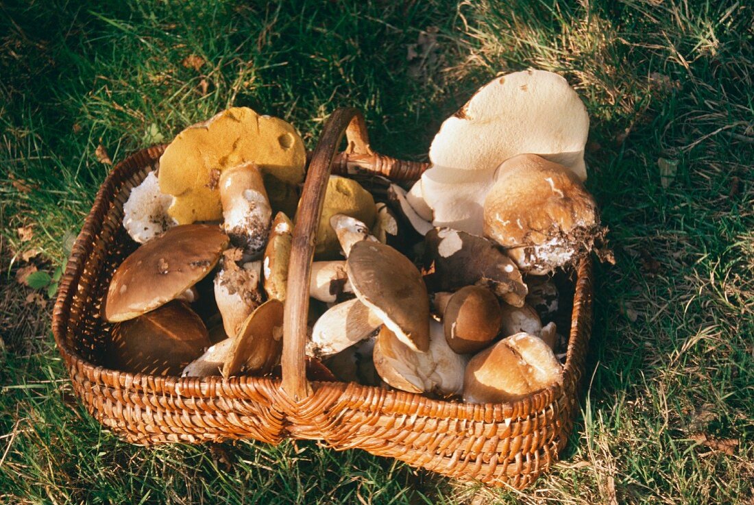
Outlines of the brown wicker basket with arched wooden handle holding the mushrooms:
[[[344,132],[348,148],[333,163]],[[282,381],[158,377],[99,366],[106,363],[109,335],[100,302],[115,267],[135,247],[121,226],[123,204],[131,188],[154,170],[163,150],[157,146],[131,155],[103,183],[73,247],[54,308],[60,354],[75,393],[97,421],[127,441],[145,445],[317,439],[339,450],[362,448],[457,479],[515,488],[529,485],[557,460],[572,428],[590,335],[588,259],[579,265],[572,285],[562,386],[516,402],[474,405],[358,384],[310,384],[305,378],[308,277],[331,167],[366,168],[403,179],[416,179],[424,169],[423,164],[371,152],[363,117],[354,109],[333,113],[311,156],[293,233]]]

